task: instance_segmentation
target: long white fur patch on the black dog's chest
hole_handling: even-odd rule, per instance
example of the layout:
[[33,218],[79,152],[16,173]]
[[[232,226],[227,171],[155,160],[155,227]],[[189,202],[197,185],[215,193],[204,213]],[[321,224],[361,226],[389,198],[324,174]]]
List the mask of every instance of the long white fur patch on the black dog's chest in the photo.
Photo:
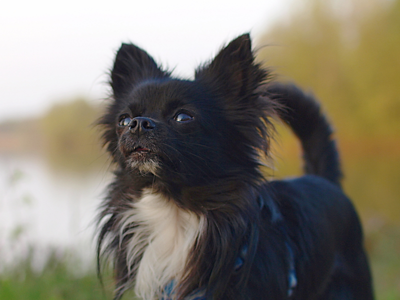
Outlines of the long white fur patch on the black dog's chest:
[[[150,190],[144,190],[132,208],[125,211],[120,240],[133,233],[127,245],[126,264],[129,273],[136,271],[137,296],[145,300],[160,298],[171,280],[179,281],[188,253],[205,228],[204,219]],[[140,255],[139,263],[134,264]]]

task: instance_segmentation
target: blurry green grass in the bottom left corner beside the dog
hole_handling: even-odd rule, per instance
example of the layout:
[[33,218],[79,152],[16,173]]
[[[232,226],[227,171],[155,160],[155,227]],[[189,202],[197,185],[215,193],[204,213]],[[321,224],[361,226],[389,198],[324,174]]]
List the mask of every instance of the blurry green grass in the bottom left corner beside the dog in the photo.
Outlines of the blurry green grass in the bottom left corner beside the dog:
[[71,255],[48,256],[43,268],[35,270],[32,254],[6,267],[0,274],[1,300],[101,300],[112,298],[112,282],[105,278],[101,287],[93,268],[79,269]]

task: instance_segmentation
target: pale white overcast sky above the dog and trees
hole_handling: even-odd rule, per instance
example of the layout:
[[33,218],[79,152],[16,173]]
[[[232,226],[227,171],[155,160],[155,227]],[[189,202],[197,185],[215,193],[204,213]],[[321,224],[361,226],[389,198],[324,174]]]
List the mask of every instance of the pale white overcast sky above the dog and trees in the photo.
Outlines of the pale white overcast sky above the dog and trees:
[[190,77],[229,40],[257,37],[293,0],[35,0],[0,5],[0,122],[106,97],[121,42]]

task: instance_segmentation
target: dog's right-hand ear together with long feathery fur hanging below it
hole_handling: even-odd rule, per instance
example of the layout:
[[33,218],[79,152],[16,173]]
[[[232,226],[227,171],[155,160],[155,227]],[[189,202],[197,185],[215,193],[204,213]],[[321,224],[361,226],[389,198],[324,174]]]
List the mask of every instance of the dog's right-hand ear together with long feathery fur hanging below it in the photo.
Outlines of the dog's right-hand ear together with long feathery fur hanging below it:
[[[195,73],[195,80],[211,89],[226,118],[242,133],[240,143],[264,151],[266,155],[269,131],[273,131],[269,117],[275,114],[276,107],[262,96],[258,87],[269,78],[269,72],[254,63],[248,33],[233,39]],[[251,151],[246,149],[245,153]]]

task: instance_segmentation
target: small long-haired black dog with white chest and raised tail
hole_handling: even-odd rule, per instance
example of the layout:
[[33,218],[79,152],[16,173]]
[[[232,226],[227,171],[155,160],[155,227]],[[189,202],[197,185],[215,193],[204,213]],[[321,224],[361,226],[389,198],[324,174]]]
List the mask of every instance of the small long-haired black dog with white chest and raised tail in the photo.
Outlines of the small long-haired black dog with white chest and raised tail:
[[[373,299],[331,128],[311,96],[269,78],[248,34],[193,80],[122,44],[99,121],[117,167],[97,257],[99,271],[112,259],[115,299]],[[260,172],[276,115],[302,143],[302,177]]]

